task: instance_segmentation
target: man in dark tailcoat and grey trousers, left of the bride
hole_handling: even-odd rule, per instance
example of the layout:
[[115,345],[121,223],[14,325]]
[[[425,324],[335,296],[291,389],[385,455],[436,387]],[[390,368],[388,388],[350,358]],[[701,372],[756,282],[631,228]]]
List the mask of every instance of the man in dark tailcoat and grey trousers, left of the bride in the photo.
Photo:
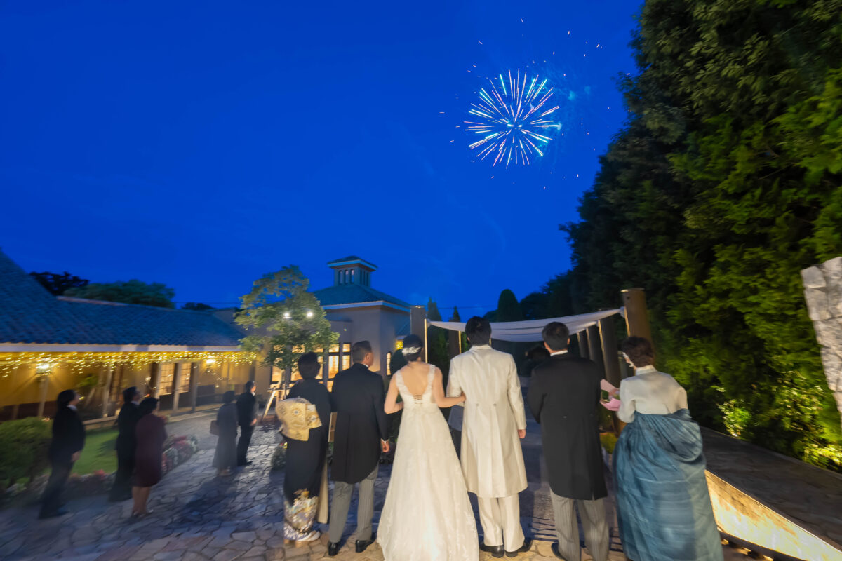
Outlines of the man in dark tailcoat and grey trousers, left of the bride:
[[369,371],[374,352],[369,341],[351,347],[351,368],[333,379],[330,394],[331,410],[336,411],[333,437],[333,503],[328,529],[328,555],[339,551],[339,540],[345,529],[354,484],[360,484],[357,506],[356,551],[362,553],[374,542],[371,521],[374,517],[374,483],[380,453],[389,451],[386,411],[386,389],[380,374]]

